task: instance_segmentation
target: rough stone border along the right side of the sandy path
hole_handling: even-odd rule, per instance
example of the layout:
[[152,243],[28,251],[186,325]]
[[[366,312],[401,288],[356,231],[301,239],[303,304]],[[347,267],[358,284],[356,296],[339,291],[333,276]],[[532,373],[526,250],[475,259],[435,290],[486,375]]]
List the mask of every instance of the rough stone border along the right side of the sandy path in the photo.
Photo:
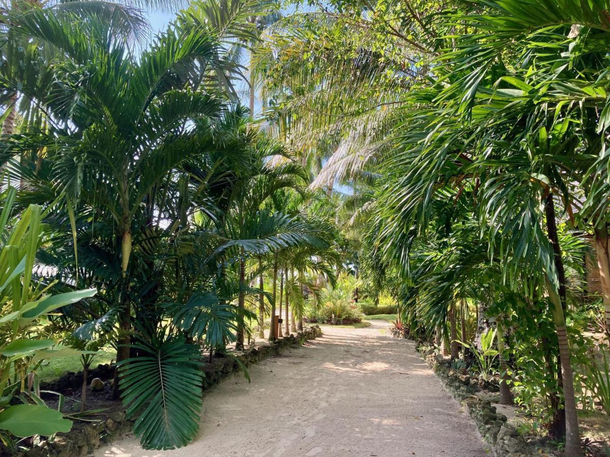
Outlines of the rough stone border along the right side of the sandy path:
[[517,429],[506,422],[506,416],[497,413],[496,407],[489,400],[482,400],[475,395],[475,392],[480,391],[476,380],[451,369],[450,360],[440,354],[434,355],[434,347],[431,344],[417,342],[415,349],[425,358],[428,366],[440,377],[453,397],[464,405],[493,455],[497,457],[544,455],[529,445]]

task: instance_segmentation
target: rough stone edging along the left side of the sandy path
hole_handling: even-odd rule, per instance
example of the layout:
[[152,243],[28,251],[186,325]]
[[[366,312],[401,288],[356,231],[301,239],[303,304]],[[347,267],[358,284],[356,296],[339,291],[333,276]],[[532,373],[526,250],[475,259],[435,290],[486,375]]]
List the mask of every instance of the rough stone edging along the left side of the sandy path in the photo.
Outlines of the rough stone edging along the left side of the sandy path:
[[[302,345],[310,339],[322,336],[322,331],[318,325],[306,327],[296,335],[280,338],[274,342],[260,342],[243,352],[234,352],[234,357],[213,358],[212,363],[204,364],[202,370],[204,374],[203,389],[209,389],[215,384],[220,383],[235,372],[240,370],[239,364],[245,366],[257,363],[269,356],[278,355],[283,349],[295,344]],[[103,366],[101,366],[103,367]],[[102,369],[100,367],[100,369]],[[105,368],[104,368],[105,369]],[[70,378],[76,380],[82,374],[76,374]],[[81,382],[81,381],[79,381]],[[132,429],[133,421],[127,420],[125,413],[121,409],[107,411],[99,415],[103,417],[99,421],[85,425],[85,427],[73,427],[68,433],[59,433],[51,441],[43,441],[27,452],[21,453],[23,457],[71,457],[86,456],[102,444],[116,441],[121,435],[129,433]]]

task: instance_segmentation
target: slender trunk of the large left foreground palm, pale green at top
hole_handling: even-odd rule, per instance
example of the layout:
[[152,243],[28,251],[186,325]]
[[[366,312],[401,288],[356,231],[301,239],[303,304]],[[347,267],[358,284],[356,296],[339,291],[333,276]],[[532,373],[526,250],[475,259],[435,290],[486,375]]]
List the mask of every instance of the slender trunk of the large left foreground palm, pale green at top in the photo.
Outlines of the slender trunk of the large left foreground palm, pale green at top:
[[[117,364],[129,358],[129,344],[131,339],[131,303],[129,303],[129,282],[127,278],[127,267],[129,267],[129,257],[131,257],[131,230],[127,229],[123,232],[121,239],[121,311],[120,311],[120,338],[117,340]],[[115,368],[114,380],[112,385],[112,398],[119,398],[118,388],[118,369]]]

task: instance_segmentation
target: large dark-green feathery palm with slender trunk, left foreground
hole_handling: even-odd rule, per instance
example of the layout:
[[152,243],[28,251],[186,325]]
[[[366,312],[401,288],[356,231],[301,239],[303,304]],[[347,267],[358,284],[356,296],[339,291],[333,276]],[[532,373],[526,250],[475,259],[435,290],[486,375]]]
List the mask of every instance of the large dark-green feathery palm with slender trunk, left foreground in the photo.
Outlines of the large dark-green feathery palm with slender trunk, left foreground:
[[[113,221],[109,235],[120,250],[121,327],[128,331],[132,240],[142,235],[140,224],[153,219],[159,186],[171,182],[173,170],[201,149],[215,149],[209,126],[221,115],[223,100],[198,89],[198,83],[226,82],[225,72],[234,64],[227,60],[223,67],[217,37],[204,30],[169,30],[135,58],[123,44],[106,40],[106,24],[76,23],[74,18],[67,26],[44,10],[20,18],[22,34],[63,55],[54,69],[57,82],[46,93],[24,88],[24,94],[54,121],[48,131],[32,133],[52,160],[53,193],[65,195],[77,211],[97,208],[98,217]],[[203,122],[188,128],[196,119]],[[5,147],[10,151],[17,144]],[[125,348],[118,350],[119,360],[126,357]]]

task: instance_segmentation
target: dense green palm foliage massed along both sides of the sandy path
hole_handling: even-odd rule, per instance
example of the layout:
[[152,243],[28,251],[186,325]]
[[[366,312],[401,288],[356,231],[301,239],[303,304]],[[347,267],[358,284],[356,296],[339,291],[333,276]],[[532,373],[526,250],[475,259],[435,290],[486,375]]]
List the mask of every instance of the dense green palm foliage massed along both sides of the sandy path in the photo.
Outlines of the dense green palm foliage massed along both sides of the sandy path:
[[[0,275],[91,289],[19,338],[115,347],[145,447],[193,439],[199,364],[268,316],[364,311],[581,455],[576,411],[610,412],[608,1],[205,0],[150,44],[138,9],[17,3],[0,222],[45,230]],[[8,322],[27,297],[0,291]],[[50,356],[8,354],[20,391]]]

